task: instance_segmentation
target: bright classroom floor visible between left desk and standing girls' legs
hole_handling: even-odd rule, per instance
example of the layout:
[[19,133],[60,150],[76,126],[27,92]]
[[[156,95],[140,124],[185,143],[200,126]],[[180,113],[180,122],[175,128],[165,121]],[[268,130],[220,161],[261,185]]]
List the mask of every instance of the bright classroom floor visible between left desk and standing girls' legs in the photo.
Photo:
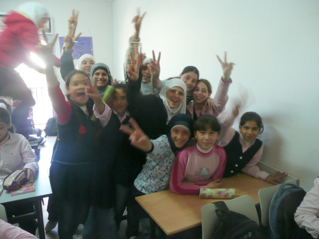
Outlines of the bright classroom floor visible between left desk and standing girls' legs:
[[[46,140],[45,144],[43,146],[39,146],[39,148],[41,148],[39,167],[41,170],[49,170],[50,165],[51,165],[50,161],[51,161],[51,156],[52,156],[53,145],[54,145],[54,142],[56,141],[56,136],[48,136],[44,139]],[[44,206],[42,206],[44,226],[48,222],[47,205],[48,205],[48,198],[44,198]],[[120,225],[119,239],[126,239],[125,228],[126,228],[126,221],[122,221],[122,223]],[[82,238],[81,237],[82,230],[83,230],[83,225],[80,225],[78,227],[76,234],[73,235],[73,238],[74,239],[81,239]],[[39,238],[38,235],[36,235],[36,236]],[[56,226],[56,228],[54,228],[52,231],[46,232],[45,238],[58,239],[59,238],[58,227]]]

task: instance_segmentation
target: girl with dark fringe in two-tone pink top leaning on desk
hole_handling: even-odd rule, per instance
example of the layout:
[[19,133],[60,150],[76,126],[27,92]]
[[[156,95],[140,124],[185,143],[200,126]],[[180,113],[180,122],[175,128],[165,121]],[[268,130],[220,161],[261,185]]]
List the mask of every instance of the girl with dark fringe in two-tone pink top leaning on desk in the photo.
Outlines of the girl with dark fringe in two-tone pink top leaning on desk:
[[[180,194],[199,194],[199,188],[219,188],[226,164],[225,150],[215,145],[220,125],[216,117],[201,115],[195,121],[197,144],[183,149],[176,157],[170,190]],[[185,181],[186,182],[185,182]]]

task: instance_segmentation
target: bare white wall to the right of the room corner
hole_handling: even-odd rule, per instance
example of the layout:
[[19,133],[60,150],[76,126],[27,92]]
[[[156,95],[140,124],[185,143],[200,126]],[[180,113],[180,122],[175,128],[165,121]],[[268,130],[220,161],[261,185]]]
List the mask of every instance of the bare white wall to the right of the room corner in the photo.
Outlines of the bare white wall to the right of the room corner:
[[248,92],[241,113],[256,111],[263,119],[262,161],[310,189],[319,176],[319,1],[115,0],[118,79],[138,6],[147,11],[140,31],[143,51],[162,53],[161,79],[194,65],[216,89],[222,71],[215,55],[228,52],[236,63],[229,97]]

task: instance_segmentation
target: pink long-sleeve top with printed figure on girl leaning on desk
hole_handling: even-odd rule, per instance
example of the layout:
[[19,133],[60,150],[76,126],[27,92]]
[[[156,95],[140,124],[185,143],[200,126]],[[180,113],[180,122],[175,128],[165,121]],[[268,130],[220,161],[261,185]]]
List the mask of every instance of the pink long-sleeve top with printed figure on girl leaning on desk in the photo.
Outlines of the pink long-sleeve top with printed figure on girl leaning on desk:
[[199,194],[199,186],[221,179],[225,165],[226,152],[218,145],[206,151],[200,149],[198,144],[185,148],[176,156],[169,179],[170,190],[180,194]]

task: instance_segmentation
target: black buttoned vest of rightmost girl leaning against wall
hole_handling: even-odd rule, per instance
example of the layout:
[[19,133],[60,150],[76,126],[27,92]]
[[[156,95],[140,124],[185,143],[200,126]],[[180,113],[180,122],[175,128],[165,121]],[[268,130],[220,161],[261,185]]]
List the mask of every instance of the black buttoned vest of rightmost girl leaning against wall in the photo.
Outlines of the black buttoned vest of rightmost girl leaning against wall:
[[243,153],[239,141],[239,133],[236,131],[233,139],[224,147],[227,159],[223,177],[230,177],[241,172],[246,164],[257,153],[262,144],[262,141],[256,139],[255,143]]

